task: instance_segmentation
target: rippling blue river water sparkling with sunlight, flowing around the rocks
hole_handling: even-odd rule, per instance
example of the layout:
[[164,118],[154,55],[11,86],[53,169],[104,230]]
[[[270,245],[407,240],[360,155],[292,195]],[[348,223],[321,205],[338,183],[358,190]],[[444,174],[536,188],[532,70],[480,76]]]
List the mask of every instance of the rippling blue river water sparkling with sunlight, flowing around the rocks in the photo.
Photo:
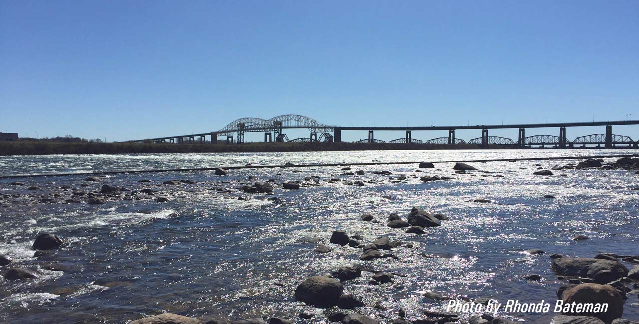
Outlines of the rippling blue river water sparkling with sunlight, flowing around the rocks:
[[[449,159],[521,158],[627,154],[636,150],[469,150],[469,151],[344,151],[224,154],[104,154],[0,157],[0,174],[79,173],[153,168],[281,165],[379,161],[438,161]],[[610,159],[609,161],[612,161]],[[544,168],[578,160],[472,163],[479,171],[456,175],[452,163],[436,169],[417,165],[353,167],[365,175],[341,175],[341,168],[169,172],[110,175],[100,182],[85,176],[19,179],[26,186],[9,186],[0,179],[0,254],[17,265],[35,269],[33,281],[0,281],[0,321],[7,323],[121,323],[162,311],[198,318],[216,314],[231,318],[268,317],[300,311],[315,313],[300,323],[327,323],[323,310],[295,302],[296,284],[316,274],[329,274],[358,263],[369,270],[395,272],[394,283],[371,286],[371,272],[348,281],[346,293],[364,298],[360,313],[374,314],[383,323],[408,310],[442,310],[443,303],[422,297],[440,291],[468,297],[509,298],[522,302],[554,302],[564,281],[550,270],[550,253],[592,257],[597,253],[637,254],[639,176],[622,170],[563,170],[553,177],[532,175]],[[372,172],[390,171],[392,175]],[[494,173],[484,173],[494,172]],[[558,177],[566,174],[567,177]],[[407,180],[397,180],[404,175]],[[421,182],[423,175],[445,175],[450,181]],[[501,175],[503,177],[495,177]],[[319,179],[311,178],[317,176]],[[255,179],[248,179],[254,177]],[[339,178],[341,182],[328,182]],[[193,180],[194,184],[161,186],[164,180]],[[302,188],[273,195],[238,191],[245,184],[299,180]],[[139,180],[151,180],[140,184]],[[362,180],[365,186],[348,186]],[[81,187],[88,184],[88,187]],[[111,184],[138,191],[153,188],[152,199],[114,200],[104,205],[61,203],[59,188],[83,191]],[[27,190],[38,186],[37,191]],[[66,192],[68,193],[68,192]],[[556,198],[547,199],[544,195]],[[42,196],[54,203],[40,203]],[[268,198],[279,198],[277,200]],[[493,203],[473,203],[476,198]],[[391,212],[403,219],[413,206],[450,217],[426,235],[411,235],[383,224],[365,223],[367,212],[385,221]],[[361,249],[329,244],[332,252],[313,252],[320,238],[328,243],[333,230],[362,235],[362,242],[391,237],[413,247],[397,247],[397,260],[360,261]],[[68,244],[34,258],[33,239],[56,233]],[[588,240],[574,242],[576,234]],[[539,248],[542,255],[521,251]],[[626,263],[627,267],[632,267]],[[525,274],[542,281],[525,281]],[[628,295],[624,318],[636,320],[636,295]],[[380,307],[373,307],[378,304]],[[381,308],[381,309],[380,309]],[[553,314],[508,314],[527,323],[548,323]],[[46,317],[45,317],[46,316]]]

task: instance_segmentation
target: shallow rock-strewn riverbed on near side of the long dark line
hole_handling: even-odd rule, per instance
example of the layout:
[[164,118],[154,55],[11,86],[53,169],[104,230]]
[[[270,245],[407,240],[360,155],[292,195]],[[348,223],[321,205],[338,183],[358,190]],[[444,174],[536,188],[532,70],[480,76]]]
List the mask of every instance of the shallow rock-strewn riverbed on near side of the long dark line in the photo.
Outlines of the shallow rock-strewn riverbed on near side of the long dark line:
[[638,161],[3,179],[0,320],[550,323],[445,306],[587,296],[636,321]]

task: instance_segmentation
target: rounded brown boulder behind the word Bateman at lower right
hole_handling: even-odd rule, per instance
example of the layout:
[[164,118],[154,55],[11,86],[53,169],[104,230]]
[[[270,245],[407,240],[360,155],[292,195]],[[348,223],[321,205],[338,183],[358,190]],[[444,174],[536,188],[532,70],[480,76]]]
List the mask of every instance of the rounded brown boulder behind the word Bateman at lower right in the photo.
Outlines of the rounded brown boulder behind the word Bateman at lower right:
[[[567,315],[595,316],[604,323],[610,323],[615,318],[620,318],[624,312],[624,298],[613,286],[608,284],[584,283],[569,288],[562,293],[564,303],[571,304],[608,304],[608,309],[601,313],[566,312]],[[562,312],[563,313],[563,312]]]

